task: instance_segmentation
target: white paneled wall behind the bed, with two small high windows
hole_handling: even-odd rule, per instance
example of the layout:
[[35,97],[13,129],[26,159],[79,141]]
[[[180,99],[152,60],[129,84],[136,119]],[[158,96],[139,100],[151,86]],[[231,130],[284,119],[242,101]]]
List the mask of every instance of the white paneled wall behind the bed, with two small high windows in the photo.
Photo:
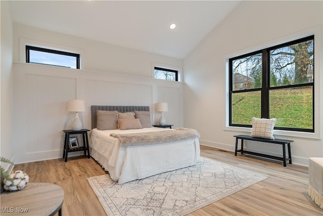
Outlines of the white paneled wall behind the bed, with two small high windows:
[[67,111],[70,99],[85,101],[79,116],[88,129],[91,105],[150,106],[152,123],[157,123],[157,102],[169,102],[167,123],[184,125],[184,83],[151,78],[153,62],[182,67],[182,60],[14,24],[15,61],[21,59],[21,38],[81,50],[86,69],[14,62],[16,163],[62,157],[62,130],[70,129],[74,118]]

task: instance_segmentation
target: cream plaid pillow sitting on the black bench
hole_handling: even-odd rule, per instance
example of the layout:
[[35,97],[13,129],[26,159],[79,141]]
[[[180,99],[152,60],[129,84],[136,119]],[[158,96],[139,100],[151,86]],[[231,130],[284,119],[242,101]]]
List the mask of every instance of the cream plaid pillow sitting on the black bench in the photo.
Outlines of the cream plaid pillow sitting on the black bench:
[[274,126],[276,118],[252,118],[251,137],[274,140]]

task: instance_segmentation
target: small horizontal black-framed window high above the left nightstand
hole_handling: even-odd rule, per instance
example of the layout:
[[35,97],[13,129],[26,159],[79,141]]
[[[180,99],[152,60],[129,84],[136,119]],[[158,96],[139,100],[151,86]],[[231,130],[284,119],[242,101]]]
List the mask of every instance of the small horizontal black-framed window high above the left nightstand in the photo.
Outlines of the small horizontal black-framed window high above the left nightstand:
[[26,46],[26,62],[80,69],[80,54]]

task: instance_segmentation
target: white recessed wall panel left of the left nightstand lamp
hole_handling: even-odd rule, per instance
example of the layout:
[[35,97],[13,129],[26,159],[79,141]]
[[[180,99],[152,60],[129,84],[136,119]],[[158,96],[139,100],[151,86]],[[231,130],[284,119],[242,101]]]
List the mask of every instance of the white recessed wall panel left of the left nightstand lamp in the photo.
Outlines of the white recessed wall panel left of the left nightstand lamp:
[[65,123],[66,101],[74,98],[76,79],[26,74],[25,82],[26,153],[60,150],[58,128]]

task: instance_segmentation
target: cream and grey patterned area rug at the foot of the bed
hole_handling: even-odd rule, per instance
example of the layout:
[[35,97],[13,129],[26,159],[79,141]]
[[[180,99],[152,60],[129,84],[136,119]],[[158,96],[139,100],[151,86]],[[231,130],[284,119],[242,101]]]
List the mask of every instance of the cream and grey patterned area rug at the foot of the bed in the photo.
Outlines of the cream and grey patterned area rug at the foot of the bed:
[[122,185],[109,175],[91,177],[93,191],[109,215],[185,215],[268,176],[200,157],[190,167]]

